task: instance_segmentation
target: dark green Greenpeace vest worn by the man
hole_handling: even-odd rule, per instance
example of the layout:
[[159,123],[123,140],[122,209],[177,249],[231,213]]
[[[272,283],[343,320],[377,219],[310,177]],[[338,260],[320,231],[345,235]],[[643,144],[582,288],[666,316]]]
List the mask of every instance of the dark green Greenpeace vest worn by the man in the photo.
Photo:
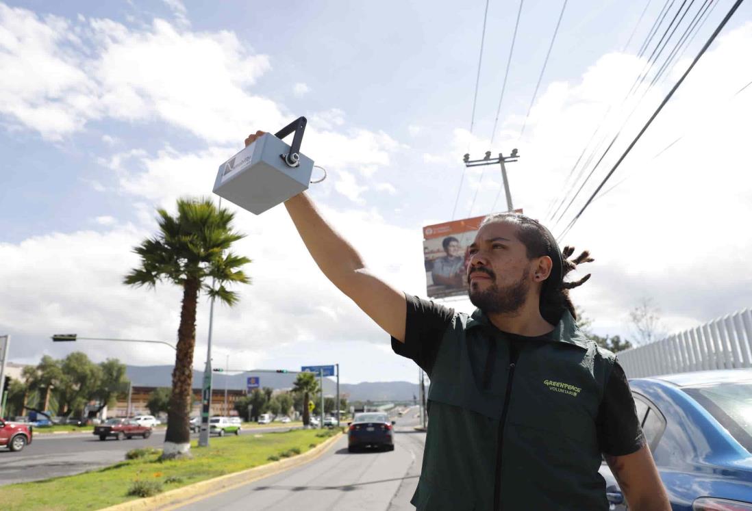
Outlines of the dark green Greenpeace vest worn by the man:
[[569,313],[551,336],[511,361],[481,311],[456,314],[429,374],[419,511],[608,509],[596,416],[615,357]]

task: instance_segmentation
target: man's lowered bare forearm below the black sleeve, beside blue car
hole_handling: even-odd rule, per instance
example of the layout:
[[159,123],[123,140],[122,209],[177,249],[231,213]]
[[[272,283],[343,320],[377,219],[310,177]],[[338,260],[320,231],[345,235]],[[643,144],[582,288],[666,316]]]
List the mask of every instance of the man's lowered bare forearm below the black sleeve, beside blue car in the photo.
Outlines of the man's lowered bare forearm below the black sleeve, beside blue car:
[[671,511],[669,496],[660,480],[647,445],[624,456],[605,455],[611,473],[633,511]]

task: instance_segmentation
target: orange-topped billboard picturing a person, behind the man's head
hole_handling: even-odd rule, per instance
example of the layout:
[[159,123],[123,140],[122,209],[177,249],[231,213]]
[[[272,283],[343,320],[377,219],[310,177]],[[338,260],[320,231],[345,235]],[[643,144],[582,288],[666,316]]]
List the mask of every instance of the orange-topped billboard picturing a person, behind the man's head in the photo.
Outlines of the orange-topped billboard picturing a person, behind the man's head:
[[[522,213],[522,210],[514,210]],[[426,295],[429,298],[466,296],[468,246],[486,216],[473,216],[423,228]]]

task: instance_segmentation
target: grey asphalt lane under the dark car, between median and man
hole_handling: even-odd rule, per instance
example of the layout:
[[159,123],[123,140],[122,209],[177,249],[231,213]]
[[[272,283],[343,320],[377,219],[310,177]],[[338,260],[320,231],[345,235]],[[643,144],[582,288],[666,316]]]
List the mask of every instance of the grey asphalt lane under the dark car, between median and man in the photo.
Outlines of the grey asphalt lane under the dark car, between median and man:
[[395,449],[347,452],[342,437],[311,463],[174,509],[362,509],[407,511],[420,476],[426,434],[414,431],[417,407],[396,419]]

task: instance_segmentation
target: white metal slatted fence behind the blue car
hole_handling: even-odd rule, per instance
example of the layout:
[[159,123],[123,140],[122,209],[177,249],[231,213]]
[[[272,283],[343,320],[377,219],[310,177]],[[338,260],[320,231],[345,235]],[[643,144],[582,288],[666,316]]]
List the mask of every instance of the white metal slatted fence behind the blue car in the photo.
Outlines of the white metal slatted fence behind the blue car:
[[752,367],[752,310],[617,353],[626,376]]

